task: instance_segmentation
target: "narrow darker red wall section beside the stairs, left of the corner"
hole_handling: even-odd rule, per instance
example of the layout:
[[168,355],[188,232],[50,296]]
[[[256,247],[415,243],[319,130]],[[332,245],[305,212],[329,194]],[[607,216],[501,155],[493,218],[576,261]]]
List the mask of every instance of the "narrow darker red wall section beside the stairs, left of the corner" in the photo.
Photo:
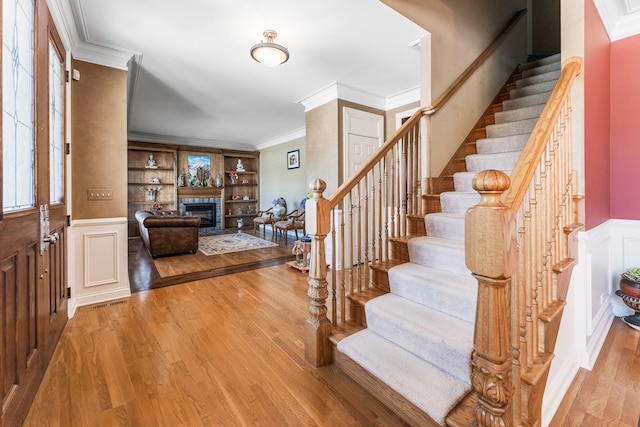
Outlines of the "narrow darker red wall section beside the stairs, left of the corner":
[[592,0],[585,0],[585,228],[611,217],[611,42]]

